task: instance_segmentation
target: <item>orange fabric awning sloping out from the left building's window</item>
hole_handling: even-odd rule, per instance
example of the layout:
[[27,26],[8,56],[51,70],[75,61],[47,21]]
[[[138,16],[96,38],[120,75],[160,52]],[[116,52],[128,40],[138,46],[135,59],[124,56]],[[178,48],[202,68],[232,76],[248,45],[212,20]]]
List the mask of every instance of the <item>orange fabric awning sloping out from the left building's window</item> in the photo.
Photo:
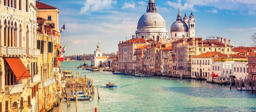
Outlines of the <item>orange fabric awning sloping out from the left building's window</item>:
[[12,69],[17,81],[31,77],[30,73],[21,62],[20,58],[5,58],[5,60]]

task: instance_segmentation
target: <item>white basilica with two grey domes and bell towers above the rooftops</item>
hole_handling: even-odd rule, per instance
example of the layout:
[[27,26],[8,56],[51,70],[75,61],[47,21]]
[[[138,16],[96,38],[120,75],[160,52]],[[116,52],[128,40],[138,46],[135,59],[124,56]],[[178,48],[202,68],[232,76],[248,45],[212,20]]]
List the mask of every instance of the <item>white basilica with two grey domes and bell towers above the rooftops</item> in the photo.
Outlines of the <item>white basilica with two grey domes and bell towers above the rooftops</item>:
[[195,20],[194,15],[188,17],[185,13],[182,20],[180,10],[177,14],[176,21],[171,25],[170,39],[168,39],[168,30],[163,17],[157,13],[155,0],[149,0],[147,13],[143,14],[138,22],[136,38],[145,38],[145,40],[153,39],[161,43],[171,43],[180,38],[182,35],[186,37],[195,37]]

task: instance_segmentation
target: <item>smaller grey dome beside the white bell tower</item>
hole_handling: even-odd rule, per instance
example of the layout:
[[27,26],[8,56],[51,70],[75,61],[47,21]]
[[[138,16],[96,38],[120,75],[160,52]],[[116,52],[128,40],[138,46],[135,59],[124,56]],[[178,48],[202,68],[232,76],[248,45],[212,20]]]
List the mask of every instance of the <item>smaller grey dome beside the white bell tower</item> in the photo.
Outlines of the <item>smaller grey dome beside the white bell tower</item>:
[[184,21],[175,21],[171,24],[171,32],[186,32],[188,31],[188,26]]

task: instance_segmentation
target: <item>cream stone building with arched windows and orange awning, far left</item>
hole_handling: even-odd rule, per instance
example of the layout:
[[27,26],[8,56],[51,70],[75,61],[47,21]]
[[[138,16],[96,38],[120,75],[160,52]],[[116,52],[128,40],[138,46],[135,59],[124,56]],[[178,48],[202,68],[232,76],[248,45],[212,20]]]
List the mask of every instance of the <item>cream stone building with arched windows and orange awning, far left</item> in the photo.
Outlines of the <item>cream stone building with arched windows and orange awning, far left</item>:
[[35,0],[0,0],[1,111],[37,110],[40,51],[35,5]]

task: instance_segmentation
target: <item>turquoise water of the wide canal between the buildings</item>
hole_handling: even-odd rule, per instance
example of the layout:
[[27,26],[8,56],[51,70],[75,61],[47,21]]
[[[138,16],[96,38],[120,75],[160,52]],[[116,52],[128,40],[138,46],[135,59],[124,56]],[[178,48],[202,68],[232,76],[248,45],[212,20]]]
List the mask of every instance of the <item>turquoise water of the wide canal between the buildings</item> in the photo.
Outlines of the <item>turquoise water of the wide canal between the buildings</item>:
[[[80,71],[92,78],[95,96],[92,101],[78,101],[79,112],[171,112],[171,111],[256,111],[256,94],[237,91],[233,87],[210,84],[194,79],[166,77],[129,77],[109,72],[90,72],[75,69],[83,62],[62,62],[62,70]],[[71,68],[70,68],[71,66]],[[117,84],[117,89],[107,89],[108,82]],[[97,99],[96,87],[100,87]],[[67,107],[62,99],[56,112],[75,112],[75,102]]]

